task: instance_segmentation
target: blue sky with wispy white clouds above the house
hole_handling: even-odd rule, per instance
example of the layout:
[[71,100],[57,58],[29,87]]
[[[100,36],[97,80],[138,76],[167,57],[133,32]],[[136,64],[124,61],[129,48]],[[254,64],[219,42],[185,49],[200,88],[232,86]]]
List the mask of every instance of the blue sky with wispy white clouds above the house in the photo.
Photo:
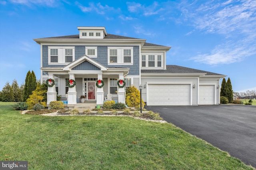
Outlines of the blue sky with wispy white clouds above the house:
[[77,26],[171,46],[167,64],[230,77],[234,91],[256,89],[255,0],[0,0],[0,90],[40,79],[34,38],[78,34]]

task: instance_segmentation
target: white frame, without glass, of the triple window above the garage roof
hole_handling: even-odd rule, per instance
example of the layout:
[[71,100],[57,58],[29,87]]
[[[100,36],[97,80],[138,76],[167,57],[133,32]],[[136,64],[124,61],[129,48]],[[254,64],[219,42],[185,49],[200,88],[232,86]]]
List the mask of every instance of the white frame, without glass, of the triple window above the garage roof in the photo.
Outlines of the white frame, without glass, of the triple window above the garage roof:
[[[146,56],[146,66],[142,66],[142,55],[145,55]],[[148,58],[148,56],[150,56],[150,55],[154,55],[155,56],[155,59],[154,59],[154,65],[155,66],[148,66],[148,62],[149,62],[149,58]],[[159,67],[158,66],[158,56],[161,56],[161,66]],[[145,61],[145,60],[144,60]],[[142,53],[141,54],[141,68],[142,69],[148,69],[148,68],[150,68],[150,69],[161,69],[161,68],[164,68],[164,54],[163,53]]]

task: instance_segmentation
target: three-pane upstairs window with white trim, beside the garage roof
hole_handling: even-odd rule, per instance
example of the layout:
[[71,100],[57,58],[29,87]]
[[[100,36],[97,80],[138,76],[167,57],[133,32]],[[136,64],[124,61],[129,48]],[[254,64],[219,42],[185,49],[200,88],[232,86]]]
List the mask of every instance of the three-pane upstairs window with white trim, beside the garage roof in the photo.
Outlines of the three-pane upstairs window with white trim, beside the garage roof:
[[163,68],[163,55],[141,55],[142,68]]

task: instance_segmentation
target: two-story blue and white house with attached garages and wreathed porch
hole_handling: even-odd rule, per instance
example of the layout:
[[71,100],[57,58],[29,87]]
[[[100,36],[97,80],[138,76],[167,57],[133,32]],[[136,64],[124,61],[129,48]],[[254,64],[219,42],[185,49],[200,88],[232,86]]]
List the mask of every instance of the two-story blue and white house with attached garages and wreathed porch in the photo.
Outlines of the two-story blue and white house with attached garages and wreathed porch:
[[225,75],[166,65],[171,47],[108,34],[105,27],[78,27],[78,31],[34,39],[41,46],[41,82],[54,80],[47,104],[57,94],[70,108],[80,103],[81,95],[95,105],[102,106],[107,94],[125,103],[131,85],[142,86],[142,99],[149,106],[219,104],[220,78]]

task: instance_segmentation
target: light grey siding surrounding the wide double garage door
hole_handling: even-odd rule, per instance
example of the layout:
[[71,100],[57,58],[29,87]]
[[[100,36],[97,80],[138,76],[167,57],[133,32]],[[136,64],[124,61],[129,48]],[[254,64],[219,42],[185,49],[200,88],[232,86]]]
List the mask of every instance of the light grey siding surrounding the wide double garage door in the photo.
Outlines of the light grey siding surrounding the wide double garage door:
[[[142,99],[146,102],[147,99],[147,89],[144,88],[145,84],[195,84],[195,88],[191,88],[192,92],[192,105],[198,105],[198,77],[197,76],[141,76],[141,85],[142,85]],[[150,92],[148,92],[150,93]]]

